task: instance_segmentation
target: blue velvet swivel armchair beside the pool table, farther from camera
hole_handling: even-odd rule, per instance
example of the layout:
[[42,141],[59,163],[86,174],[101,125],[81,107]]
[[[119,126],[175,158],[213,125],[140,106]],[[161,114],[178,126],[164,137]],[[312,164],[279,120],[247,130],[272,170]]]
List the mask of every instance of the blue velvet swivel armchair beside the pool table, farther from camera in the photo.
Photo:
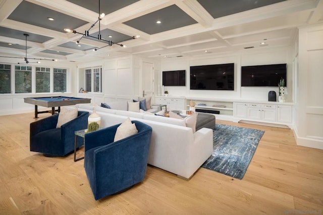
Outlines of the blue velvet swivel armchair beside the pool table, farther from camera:
[[[65,156],[71,153],[74,151],[74,131],[87,128],[88,116],[88,112],[78,111],[75,119],[60,128],[56,128],[59,114],[30,123],[30,151],[45,156]],[[83,138],[78,136],[77,148],[83,144]]]

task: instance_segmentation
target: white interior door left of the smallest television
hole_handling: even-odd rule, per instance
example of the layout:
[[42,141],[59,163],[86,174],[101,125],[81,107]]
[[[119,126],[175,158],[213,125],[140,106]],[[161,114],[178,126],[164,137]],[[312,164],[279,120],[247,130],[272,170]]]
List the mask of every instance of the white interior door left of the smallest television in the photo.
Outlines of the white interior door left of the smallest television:
[[142,66],[142,94],[141,96],[152,96],[153,92],[153,64],[143,62]]

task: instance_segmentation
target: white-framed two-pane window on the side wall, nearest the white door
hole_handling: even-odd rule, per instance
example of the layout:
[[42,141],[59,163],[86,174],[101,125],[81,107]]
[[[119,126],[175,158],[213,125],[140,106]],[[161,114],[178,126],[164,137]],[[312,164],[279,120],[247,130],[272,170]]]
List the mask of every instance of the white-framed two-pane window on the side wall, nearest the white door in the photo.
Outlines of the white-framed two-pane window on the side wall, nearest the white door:
[[85,69],[85,90],[87,92],[102,92],[102,68]]

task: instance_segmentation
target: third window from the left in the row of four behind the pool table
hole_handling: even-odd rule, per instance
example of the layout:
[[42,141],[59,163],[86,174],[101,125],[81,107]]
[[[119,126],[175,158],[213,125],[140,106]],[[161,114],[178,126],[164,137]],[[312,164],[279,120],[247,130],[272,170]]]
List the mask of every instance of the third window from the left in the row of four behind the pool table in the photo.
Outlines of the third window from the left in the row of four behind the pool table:
[[36,67],[36,93],[50,92],[50,68]]

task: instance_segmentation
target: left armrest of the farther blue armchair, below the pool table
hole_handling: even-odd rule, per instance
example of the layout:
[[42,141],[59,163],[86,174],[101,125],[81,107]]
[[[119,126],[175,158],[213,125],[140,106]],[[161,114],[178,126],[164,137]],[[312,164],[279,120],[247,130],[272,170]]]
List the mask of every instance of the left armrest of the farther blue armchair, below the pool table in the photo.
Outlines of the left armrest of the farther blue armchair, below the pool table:
[[59,114],[55,114],[30,123],[30,135],[33,136],[44,130],[56,128],[58,118]]

